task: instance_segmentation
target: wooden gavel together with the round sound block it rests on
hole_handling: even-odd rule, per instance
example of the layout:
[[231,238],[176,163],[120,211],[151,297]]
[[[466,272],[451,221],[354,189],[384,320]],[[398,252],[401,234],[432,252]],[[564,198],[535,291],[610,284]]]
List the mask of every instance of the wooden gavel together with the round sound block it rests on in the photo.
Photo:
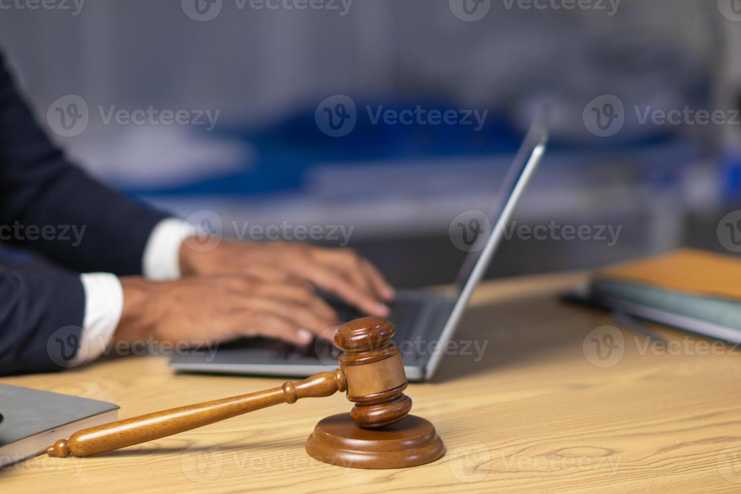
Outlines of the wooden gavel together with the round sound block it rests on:
[[414,467],[445,452],[430,421],[409,415],[411,399],[396,328],[384,318],[365,317],[343,324],[334,337],[342,350],[340,369],[317,373],[282,387],[206,401],[187,407],[126,418],[74,433],[47,448],[50,456],[90,456],[195,429],[236,415],[321,398],[346,391],[350,413],[323,418],[306,441],[319,461],[355,468]]

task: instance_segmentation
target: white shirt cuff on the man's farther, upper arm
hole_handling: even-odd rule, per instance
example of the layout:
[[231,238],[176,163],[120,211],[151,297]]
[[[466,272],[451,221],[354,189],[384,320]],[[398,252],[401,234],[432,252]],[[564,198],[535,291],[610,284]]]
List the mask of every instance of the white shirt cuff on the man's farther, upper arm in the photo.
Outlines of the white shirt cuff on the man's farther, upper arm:
[[167,218],[153,228],[144,247],[144,278],[153,281],[180,278],[180,245],[184,238],[182,227],[182,220]]

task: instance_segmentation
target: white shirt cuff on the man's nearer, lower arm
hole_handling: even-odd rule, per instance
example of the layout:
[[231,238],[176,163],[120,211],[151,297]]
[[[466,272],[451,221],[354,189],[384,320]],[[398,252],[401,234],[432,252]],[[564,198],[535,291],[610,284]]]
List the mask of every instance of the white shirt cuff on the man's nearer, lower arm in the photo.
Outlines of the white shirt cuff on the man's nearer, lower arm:
[[90,362],[101,356],[121,320],[124,311],[124,289],[111,273],[80,275],[85,293],[85,315],[82,334],[71,366]]

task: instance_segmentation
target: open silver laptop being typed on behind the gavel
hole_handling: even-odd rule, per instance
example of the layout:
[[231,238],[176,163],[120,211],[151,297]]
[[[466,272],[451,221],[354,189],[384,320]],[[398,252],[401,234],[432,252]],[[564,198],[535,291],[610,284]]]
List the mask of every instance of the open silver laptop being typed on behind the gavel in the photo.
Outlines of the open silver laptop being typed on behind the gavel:
[[[479,232],[479,238],[475,238],[475,241],[467,238],[466,245],[477,247],[463,262],[455,281],[455,292],[446,295],[425,290],[399,290],[395,300],[389,304],[389,319],[396,325],[393,340],[399,344],[409,381],[430,380],[438,369],[444,354],[439,349],[445,348],[445,344],[451,341],[468,299],[502,242],[505,225],[511,221],[517,202],[545,153],[547,119],[547,112],[543,111],[533,121],[505,176],[498,200],[494,201],[488,213],[481,213],[485,216],[481,219],[488,220],[491,227],[477,228],[475,231]],[[480,219],[476,221],[479,225],[482,222]],[[460,227],[465,228],[465,225],[463,221]],[[456,227],[456,224],[452,227]],[[489,230],[488,235],[486,230]],[[466,231],[462,230],[462,234],[465,235]],[[328,301],[336,308],[341,321],[364,316],[336,299],[328,297]],[[419,351],[419,348],[432,351]],[[435,351],[435,348],[438,350]],[[316,344],[306,350],[268,338],[249,338],[219,346],[213,353],[196,349],[178,353],[170,358],[170,367],[198,373],[303,377],[336,369],[338,356],[339,350],[322,339],[317,339]]]

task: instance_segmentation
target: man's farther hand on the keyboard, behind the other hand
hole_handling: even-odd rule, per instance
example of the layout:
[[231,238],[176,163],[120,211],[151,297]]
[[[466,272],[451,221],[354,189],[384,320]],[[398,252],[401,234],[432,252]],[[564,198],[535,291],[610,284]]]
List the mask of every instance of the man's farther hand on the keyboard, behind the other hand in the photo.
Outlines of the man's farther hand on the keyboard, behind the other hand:
[[393,288],[375,267],[354,250],[309,244],[225,240],[213,250],[180,247],[183,275],[242,274],[280,283],[289,277],[308,281],[371,316],[388,316],[384,301]]

